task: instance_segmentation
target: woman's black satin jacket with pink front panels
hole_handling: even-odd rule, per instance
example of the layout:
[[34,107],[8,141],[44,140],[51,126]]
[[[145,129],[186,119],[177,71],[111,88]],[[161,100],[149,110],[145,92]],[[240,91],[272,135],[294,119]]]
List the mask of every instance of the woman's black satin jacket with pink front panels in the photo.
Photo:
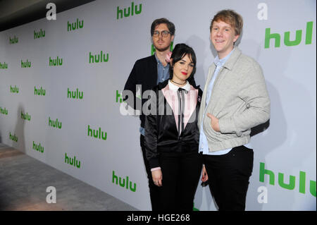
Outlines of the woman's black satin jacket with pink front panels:
[[[147,109],[150,113],[145,117],[145,135],[144,145],[146,148],[147,160],[150,168],[160,166],[160,152],[198,152],[199,147],[199,128],[197,126],[198,113],[201,102],[202,91],[199,86],[192,85],[198,89],[198,99],[196,109],[192,113],[185,129],[178,135],[178,129],[175,122],[173,111],[170,108],[165,97],[159,92],[168,85],[168,80],[159,83],[153,88],[151,97],[147,101]],[[156,109],[151,111],[151,107],[156,104]],[[167,109],[169,107],[169,109]],[[163,109],[162,109],[163,108]],[[172,114],[161,113],[172,111]]]

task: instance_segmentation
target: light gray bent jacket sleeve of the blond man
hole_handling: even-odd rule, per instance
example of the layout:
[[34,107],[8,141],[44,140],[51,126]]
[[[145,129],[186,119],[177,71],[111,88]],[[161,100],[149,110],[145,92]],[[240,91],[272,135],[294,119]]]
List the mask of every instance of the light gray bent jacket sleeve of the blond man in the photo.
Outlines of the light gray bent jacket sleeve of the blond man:
[[255,61],[241,80],[238,97],[244,101],[245,110],[230,118],[220,118],[221,133],[236,133],[240,136],[242,131],[265,123],[270,118],[270,98],[261,67]]

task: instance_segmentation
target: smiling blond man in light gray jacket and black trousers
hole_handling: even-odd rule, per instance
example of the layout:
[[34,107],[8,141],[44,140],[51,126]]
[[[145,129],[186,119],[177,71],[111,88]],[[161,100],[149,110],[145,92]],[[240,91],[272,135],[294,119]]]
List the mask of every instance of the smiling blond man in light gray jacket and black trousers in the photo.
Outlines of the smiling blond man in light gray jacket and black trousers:
[[242,27],[242,17],[232,10],[219,11],[211,20],[210,39],[218,55],[199,111],[202,181],[209,180],[219,210],[245,209],[254,159],[251,128],[270,118],[261,66],[235,46]]

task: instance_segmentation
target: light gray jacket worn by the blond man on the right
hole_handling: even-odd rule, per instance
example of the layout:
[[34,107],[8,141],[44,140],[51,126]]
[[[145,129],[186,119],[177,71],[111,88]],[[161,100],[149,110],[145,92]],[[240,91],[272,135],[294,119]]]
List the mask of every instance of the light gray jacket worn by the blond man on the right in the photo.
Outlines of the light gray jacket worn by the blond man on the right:
[[[213,63],[209,67],[198,117],[200,129],[205,113],[203,128],[209,152],[247,144],[251,128],[270,118],[270,98],[259,63],[235,47],[218,73],[206,106],[207,88],[215,69]],[[219,119],[220,132],[211,128],[211,118],[206,116],[207,112]]]

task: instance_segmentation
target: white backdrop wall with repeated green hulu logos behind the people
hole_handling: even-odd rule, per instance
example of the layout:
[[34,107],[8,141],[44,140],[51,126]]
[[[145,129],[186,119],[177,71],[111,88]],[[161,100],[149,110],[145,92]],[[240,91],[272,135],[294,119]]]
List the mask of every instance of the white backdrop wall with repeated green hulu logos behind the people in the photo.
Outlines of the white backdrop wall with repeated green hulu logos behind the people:
[[[162,17],[175,23],[174,45],[196,51],[203,87],[216,56],[209,24],[225,8],[243,16],[238,46],[261,64],[271,97],[271,119],[251,138],[247,210],[316,210],[315,0],[94,1],[0,32],[1,142],[151,209],[139,118],[120,114],[120,93],[153,54],[150,26]],[[194,208],[216,209],[209,188],[199,185]]]

